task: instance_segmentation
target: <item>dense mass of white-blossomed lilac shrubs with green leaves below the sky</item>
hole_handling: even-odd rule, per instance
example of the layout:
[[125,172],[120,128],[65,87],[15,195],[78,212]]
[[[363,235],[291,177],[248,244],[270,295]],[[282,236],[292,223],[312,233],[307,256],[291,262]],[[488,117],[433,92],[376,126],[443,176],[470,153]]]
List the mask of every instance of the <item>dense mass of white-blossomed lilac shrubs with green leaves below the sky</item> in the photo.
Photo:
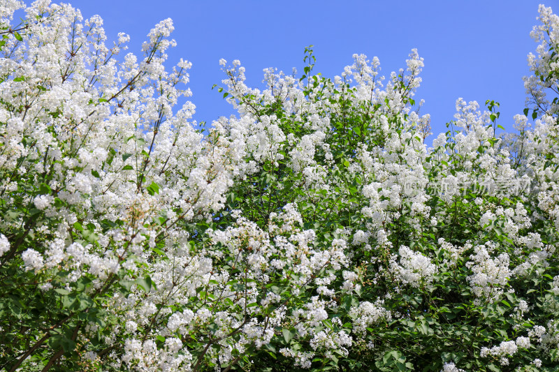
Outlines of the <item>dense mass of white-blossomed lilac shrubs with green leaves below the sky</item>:
[[222,59],[238,114],[205,130],[175,107],[171,20],[136,56],[99,16],[0,0],[0,369],[556,371],[559,17],[539,20],[516,133],[459,98],[428,147],[416,50],[327,78],[307,47],[263,89]]

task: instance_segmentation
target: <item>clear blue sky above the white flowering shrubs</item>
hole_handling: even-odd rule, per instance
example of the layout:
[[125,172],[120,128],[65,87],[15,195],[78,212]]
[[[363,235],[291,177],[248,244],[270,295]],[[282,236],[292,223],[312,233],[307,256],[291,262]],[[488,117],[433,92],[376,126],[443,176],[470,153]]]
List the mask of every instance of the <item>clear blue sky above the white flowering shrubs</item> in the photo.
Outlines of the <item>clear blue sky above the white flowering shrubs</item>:
[[[435,136],[453,119],[456,98],[501,103],[500,124],[512,130],[522,113],[530,38],[540,1],[305,1],[305,0],[75,0],[84,17],[99,14],[110,40],[119,31],[131,36],[127,52],[140,54],[152,26],[173,19],[177,47],[169,67],[181,57],[191,61],[190,99],[194,119],[208,121],[233,110],[213,84],[224,78],[219,59],[240,59],[247,81],[261,87],[262,69],[303,70],[303,49],[314,45],[315,70],[340,75],[354,53],[379,57],[382,74],[405,67],[412,48],[425,59],[416,101],[426,103]],[[559,1],[547,1],[559,11]],[[432,139],[433,137],[431,137]],[[430,143],[430,141],[428,140]]]

